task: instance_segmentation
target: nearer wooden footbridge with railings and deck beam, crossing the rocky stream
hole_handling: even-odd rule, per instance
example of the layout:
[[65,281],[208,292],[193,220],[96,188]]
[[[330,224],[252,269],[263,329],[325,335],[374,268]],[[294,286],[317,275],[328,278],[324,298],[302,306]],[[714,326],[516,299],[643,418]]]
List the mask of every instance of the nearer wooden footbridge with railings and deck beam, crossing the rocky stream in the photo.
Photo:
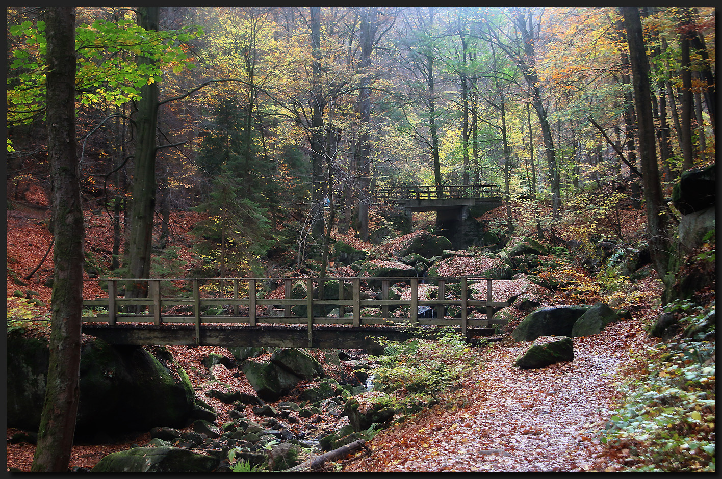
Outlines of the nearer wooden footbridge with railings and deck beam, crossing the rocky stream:
[[[492,313],[509,305],[492,301],[492,281],[508,280],[471,276],[92,281],[107,282],[108,297],[83,301],[82,333],[126,345],[369,349],[379,336],[432,337],[442,327],[471,340],[493,335]],[[147,285],[148,297],[126,298],[128,281]]]

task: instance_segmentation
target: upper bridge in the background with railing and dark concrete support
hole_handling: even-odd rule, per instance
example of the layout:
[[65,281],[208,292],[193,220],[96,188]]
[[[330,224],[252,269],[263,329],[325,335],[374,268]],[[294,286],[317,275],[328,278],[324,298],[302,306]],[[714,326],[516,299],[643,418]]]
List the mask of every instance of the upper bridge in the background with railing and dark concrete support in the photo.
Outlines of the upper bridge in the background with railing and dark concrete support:
[[392,203],[410,212],[436,211],[438,232],[463,250],[470,208],[481,216],[502,205],[501,187],[497,185],[414,185],[376,190],[375,203]]

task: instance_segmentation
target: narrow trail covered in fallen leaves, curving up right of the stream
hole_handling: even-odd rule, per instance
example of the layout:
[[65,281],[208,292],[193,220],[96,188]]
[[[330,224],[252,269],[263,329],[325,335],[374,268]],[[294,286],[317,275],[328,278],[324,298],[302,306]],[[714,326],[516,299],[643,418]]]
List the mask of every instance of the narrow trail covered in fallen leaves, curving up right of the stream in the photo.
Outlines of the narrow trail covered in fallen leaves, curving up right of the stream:
[[573,361],[522,370],[513,361],[529,343],[492,346],[484,366],[457,390],[458,408],[435,406],[379,433],[370,457],[345,472],[616,471],[599,430],[611,416],[619,371],[630,351],[653,344],[637,321],[574,338]]

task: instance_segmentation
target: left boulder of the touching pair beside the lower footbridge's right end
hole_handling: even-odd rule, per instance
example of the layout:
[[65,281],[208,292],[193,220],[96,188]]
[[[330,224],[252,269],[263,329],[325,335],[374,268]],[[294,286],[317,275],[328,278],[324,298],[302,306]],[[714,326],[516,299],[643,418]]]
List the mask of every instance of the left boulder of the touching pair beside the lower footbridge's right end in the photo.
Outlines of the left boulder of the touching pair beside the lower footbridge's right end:
[[588,304],[562,304],[536,309],[525,317],[511,333],[515,341],[533,341],[541,336],[571,336],[574,323]]

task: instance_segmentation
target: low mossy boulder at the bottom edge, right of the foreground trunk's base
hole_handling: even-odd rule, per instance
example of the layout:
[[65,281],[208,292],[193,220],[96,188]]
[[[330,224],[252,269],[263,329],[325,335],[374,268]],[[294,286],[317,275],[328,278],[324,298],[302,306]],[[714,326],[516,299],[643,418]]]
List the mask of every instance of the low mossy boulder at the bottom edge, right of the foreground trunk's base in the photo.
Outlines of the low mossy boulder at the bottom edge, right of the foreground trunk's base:
[[212,473],[219,465],[214,456],[180,447],[134,447],[103,457],[93,473]]

